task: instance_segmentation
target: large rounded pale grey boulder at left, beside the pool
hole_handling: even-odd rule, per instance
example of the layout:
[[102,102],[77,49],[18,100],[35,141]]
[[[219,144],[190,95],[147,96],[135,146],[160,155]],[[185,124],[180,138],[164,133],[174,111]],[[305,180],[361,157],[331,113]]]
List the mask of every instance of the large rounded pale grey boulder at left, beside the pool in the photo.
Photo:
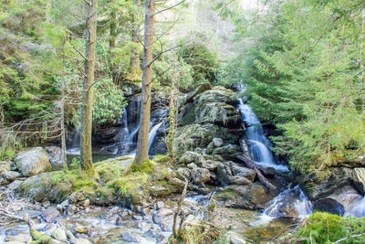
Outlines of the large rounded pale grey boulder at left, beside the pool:
[[35,147],[16,155],[16,167],[26,177],[51,170],[49,157],[42,147]]

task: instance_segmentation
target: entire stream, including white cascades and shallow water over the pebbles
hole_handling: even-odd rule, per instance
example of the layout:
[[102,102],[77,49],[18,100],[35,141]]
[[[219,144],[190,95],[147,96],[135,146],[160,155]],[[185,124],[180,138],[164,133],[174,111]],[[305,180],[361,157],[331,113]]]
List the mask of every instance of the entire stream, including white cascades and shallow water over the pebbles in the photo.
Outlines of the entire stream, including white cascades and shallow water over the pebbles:
[[[287,164],[279,162],[271,152],[271,143],[251,107],[245,104],[245,100],[240,100],[237,109],[241,112],[246,126],[245,141],[255,164],[262,169],[272,167],[277,174],[290,174]],[[129,108],[124,109],[124,115],[120,119],[120,131],[115,137],[116,143],[106,145],[101,153],[93,154],[94,162],[119,155],[135,154],[140,111],[139,100],[131,102]],[[166,114],[162,118],[157,116],[151,120],[149,154],[151,147],[156,143],[159,130],[164,125]],[[79,132],[78,128],[73,142],[69,145],[68,159],[79,154]],[[288,227],[310,216],[314,207],[308,197],[299,186],[293,187],[290,183],[287,185],[287,189],[266,203],[262,212],[217,207],[217,221],[221,227],[227,229],[223,239],[269,243]],[[207,206],[208,198],[209,195],[189,193],[183,204],[184,212],[190,213],[187,218],[199,220],[204,207]],[[40,203],[18,200],[14,212],[36,217],[36,229],[49,236],[54,235],[55,231],[60,231],[71,235],[71,239],[73,236],[74,239],[89,239],[93,243],[166,243],[172,235],[172,217],[178,199],[179,196],[170,196],[160,199],[157,204],[134,209],[132,207],[133,211],[124,207],[70,207],[68,202],[64,202],[65,210],[62,215],[55,211],[56,208],[59,209],[59,205],[42,206]],[[56,212],[58,214],[53,216],[52,213]],[[346,207],[345,216],[364,217],[365,198]],[[0,228],[0,243],[19,239],[24,243],[29,239],[26,225],[17,222]]]

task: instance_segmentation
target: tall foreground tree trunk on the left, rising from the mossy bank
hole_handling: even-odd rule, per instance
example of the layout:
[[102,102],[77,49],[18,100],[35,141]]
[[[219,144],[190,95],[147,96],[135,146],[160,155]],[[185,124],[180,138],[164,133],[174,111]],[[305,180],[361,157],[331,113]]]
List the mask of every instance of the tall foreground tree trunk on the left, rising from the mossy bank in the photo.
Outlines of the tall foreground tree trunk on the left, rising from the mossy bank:
[[80,138],[80,156],[81,168],[88,173],[95,173],[92,164],[91,152],[91,131],[92,131],[92,102],[93,102],[93,82],[95,70],[95,46],[97,41],[97,11],[98,0],[89,1],[87,31],[86,31],[86,60],[85,74],[83,80],[82,94],[82,113],[81,113],[81,138]]

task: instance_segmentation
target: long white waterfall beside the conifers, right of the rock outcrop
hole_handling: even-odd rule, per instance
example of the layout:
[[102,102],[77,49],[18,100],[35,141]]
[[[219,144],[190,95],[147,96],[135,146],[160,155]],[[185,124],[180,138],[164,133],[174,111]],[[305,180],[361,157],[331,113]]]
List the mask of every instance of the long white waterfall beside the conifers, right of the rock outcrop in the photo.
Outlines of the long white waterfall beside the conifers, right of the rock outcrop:
[[255,112],[243,100],[240,100],[238,109],[241,111],[245,124],[247,124],[245,137],[255,163],[259,166],[273,167],[276,170],[287,172],[287,165],[276,163],[269,149],[270,141],[266,138],[264,129],[258,121]]

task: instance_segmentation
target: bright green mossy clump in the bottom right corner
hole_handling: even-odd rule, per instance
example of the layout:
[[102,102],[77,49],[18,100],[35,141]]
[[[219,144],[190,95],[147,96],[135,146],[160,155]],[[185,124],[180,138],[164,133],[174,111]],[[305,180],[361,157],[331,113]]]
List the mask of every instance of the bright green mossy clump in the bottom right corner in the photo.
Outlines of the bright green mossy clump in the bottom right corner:
[[308,218],[306,225],[299,229],[297,238],[306,238],[308,243],[364,243],[365,237],[354,237],[365,232],[365,217],[339,217],[316,212]]

